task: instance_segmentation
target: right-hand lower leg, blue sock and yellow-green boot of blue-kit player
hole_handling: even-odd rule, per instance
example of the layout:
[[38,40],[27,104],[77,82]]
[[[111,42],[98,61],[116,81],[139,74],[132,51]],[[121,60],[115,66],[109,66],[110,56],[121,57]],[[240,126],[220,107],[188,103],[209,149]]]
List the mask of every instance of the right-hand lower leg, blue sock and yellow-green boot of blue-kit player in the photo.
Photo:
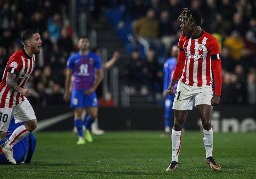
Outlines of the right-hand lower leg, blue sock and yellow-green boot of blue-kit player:
[[97,107],[89,107],[86,109],[88,112],[88,116],[86,118],[86,125],[85,125],[85,139],[88,142],[92,142],[92,135],[90,133],[90,128],[94,120],[98,116],[98,108]]

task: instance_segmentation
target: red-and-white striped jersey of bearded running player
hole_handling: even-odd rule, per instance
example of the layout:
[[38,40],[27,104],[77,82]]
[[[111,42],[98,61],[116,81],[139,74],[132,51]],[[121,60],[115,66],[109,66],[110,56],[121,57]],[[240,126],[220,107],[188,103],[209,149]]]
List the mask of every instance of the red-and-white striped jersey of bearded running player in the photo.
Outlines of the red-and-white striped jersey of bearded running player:
[[24,88],[30,74],[35,66],[35,55],[29,57],[25,50],[19,50],[15,52],[7,62],[5,67],[3,78],[0,83],[0,108],[12,108],[15,105],[21,103],[21,101],[26,100],[25,96],[12,90],[6,84],[7,72],[16,74],[14,81],[21,87]]

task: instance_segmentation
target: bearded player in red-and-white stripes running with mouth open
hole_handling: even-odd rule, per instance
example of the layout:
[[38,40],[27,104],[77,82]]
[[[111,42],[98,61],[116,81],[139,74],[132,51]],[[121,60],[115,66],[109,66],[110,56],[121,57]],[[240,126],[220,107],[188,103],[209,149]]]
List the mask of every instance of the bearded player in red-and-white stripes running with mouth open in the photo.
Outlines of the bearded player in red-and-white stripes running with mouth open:
[[12,147],[28,136],[37,126],[35,112],[30,105],[29,89],[24,89],[35,66],[35,54],[40,54],[42,40],[38,30],[25,30],[21,34],[24,49],[14,52],[9,58],[0,83],[0,138],[5,136],[12,116],[15,122],[24,122],[14,130],[10,138],[0,146],[7,160],[16,164]]

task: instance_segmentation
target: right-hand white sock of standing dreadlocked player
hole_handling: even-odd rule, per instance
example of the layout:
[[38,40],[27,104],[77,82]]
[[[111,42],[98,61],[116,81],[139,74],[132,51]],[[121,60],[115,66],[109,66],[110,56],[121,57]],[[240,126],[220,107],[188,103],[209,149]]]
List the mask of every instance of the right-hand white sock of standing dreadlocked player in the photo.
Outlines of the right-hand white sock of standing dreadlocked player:
[[206,158],[213,156],[213,128],[210,130],[204,130],[204,148],[206,150]]

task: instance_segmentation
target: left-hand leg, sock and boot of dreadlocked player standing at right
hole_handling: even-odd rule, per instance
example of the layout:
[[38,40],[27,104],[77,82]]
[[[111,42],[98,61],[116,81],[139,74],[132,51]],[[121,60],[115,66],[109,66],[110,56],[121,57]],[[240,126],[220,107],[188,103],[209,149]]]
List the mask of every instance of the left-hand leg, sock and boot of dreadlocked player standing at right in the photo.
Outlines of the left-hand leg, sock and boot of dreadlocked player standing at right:
[[189,110],[173,110],[174,111],[174,125],[171,132],[171,164],[166,171],[176,170],[178,168],[178,155],[180,153],[182,127],[187,118]]

